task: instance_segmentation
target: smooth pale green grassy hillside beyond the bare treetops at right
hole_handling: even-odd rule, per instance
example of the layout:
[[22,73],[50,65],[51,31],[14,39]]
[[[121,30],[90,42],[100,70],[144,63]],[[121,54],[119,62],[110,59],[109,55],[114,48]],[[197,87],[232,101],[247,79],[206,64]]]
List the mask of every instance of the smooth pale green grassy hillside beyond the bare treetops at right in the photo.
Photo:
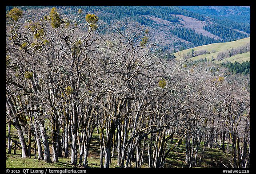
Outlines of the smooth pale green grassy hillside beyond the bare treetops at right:
[[[245,53],[241,53],[241,54],[236,54],[236,55],[232,55],[231,57],[228,58],[224,58],[222,60],[217,59],[218,54],[220,54],[221,52],[225,52],[228,53],[228,51],[230,50],[235,50],[235,49],[239,49],[243,46],[246,46],[247,44],[250,44],[251,38],[244,38],[244,39],[240,39],[240,40],[236,40],[236,41],[232,41],[232,42],[227,42],[227,43],[212,43],[209,45],[203,45],[203,46],[197,46],[195,48],[193,48],[194,53],[196,52],[204,52],[204,54],[200,54],[197,56],[194,56],[192,58],[188,57],[188,60],[191,61],[196,61],[196,60],[200,60],[200,59],[204,59],[206,58],[207,60],[212,60],[212,56],[213,56],[213,62],[215,63],[221,63],[221,62],[245,62],[245,61],[250,61],[250,51],[247,51]],[[173,55],[176,57],[176,60],[179,60],[180,58],[186,58],[187,55],[191,55],[192,54],[192,49],[187,49],[187,50],[182,50],[179,52],[174,53]]]

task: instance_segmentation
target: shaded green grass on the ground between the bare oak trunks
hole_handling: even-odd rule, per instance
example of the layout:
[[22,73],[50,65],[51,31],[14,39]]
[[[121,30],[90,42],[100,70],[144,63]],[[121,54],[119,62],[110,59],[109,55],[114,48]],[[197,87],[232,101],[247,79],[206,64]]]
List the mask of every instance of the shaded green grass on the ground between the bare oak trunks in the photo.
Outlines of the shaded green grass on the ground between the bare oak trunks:
[[[11,138],[17,140],[19,142],[19,138],[16,132],[16,129],[11,126]],[[8,144],[8,127],[6,127],[5,132],[5,140],[6,144]],[[28,142],[28,137],[25,136],[26,142]],[[34,144],[35,139],[32,139],[32,145]],[[173,139],[173,142],[168,142],[168,146],[173,146],[178,142],[177,138]],[[13,148],[14,146],[12,146]],[[52,144],[50,142],[50,147]],[[204,147],[204,142],[201,142],[201,146],[199,148],[199,155]],[[78,148],[78,147],[77,147]],[[51,149],[51,157],[52,157],[52,148]],[[69,149],[71,149],[71,143],[69,142]],[[32,147],[31,158],[21,159],[21,150],[19,147],[16,147],[16,154],[14,154],[14,149],[12,149],[11,154],[7,153],[8,149],[6,148],[5,156],[7,159],[5,160],[6,168],[83,168],[83,167],[74,167],[70,165],[70,158],[59,157],[59,162],[44,162],[34,159],[34,150]],[[79,151],[79,148],[78,148]],[[207,148],[204,153],[204,158],[202,160],[202,164],[198,167],[200,168],[221,168],[223,167],[221,162],[228,163],[228,160],[232,158],[231,156],[232,147],[229,144],[229,150],[226,150],[225,153],[222,152],[219,148]],[[176,147],[173,151],[168,154],[168,157],[164,163],[164,168],[187,168],[188,166],[185,163],[185,152],[186,147],[184,141],[180,144],[179,147]],[[38,155],[38,154],[37,154]],[[78,152],[78,159],[80,155]],[[148,155],[144,155],[144,163],[142,164],[142,168],[148,168]],[[110,168],[116,168],[117,166],[117,154],[113,158],[111,158]],[[132,168],[135,167],[135,160],[132,161]],[[99,135],[95,131],[92,135],[91,147],[88,154],[88,168],[100,168],[100,147],[99,147]]]

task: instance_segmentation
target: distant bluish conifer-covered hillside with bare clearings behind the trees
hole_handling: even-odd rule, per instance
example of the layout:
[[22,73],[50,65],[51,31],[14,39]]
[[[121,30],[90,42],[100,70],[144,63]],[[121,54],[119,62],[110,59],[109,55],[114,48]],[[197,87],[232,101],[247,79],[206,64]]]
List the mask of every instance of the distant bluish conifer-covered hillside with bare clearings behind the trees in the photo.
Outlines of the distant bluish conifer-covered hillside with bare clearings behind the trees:
[[[19,6],[29,8],[52,6]],[[96,14],[106,25],[134,20],[149,28],[164,51],[176,52],[250,36],[250,8],[239,6],[55,6],[67,15],[78,10]],[[6,12],[13,6],[6,6]]]

